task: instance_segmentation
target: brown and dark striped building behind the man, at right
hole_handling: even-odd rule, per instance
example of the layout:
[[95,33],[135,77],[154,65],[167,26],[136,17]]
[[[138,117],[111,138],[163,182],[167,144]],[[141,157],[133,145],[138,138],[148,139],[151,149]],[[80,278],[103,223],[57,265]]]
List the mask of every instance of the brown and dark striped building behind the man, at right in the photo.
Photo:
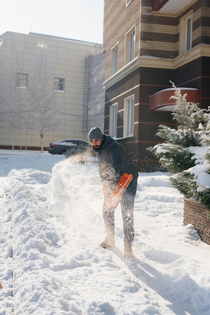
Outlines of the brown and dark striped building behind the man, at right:
[[139,171],[158,170],[146,148],[160,142],[160,124],[176,125],[170,81],[210,105],[210,3],[104,0],[103,49],[104,132],[128,147]]

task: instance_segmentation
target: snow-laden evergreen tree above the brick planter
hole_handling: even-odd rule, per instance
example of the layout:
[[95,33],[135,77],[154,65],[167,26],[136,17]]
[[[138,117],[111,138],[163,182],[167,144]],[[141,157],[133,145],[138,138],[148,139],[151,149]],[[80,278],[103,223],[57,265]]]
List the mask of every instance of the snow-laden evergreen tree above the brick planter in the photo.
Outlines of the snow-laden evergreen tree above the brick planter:
[[157,135],[165,140],[148,150],[171,172],[170,181],[185,198],[192,198],[210,209],[210,114],[186,101],[186,94],[174,88],[173,120],[177,129],[160,125]]

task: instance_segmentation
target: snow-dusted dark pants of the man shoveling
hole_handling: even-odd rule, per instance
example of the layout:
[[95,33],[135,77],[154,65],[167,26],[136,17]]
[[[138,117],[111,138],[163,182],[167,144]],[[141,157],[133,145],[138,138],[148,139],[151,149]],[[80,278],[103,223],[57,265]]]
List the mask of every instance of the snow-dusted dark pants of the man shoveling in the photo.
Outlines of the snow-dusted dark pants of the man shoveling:
[[[134,199],[137,190],[137,179],[133,179],[123,193],[120,204],[123,216],[124,242],[134,240]],[[115,208],[107,206],[109,194],[106,194],[103,202],[103,219],[108,235],[115,233]]]

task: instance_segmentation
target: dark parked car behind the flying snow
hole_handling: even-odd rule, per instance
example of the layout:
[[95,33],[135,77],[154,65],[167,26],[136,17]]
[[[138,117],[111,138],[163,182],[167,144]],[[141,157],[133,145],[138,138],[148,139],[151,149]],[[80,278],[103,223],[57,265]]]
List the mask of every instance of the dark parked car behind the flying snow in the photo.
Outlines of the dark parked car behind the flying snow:
[[48,152],[51,154],[71,155],[87,151],[89,147],[91,147],[91,145],[83,140],[64,139],[50,143]]

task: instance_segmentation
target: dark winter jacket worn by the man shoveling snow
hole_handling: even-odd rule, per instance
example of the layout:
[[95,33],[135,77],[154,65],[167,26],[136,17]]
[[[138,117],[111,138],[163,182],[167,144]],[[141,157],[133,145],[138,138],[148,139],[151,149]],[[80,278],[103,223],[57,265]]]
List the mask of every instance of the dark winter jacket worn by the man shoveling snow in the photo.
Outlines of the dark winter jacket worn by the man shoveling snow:
[[134,179],[137,179],[136,166],[123,146],[110,135],[103,136],[99,149],[95,151],[102,183],[108,183],[110,187],[115,186],[125,173],[132,174]]

